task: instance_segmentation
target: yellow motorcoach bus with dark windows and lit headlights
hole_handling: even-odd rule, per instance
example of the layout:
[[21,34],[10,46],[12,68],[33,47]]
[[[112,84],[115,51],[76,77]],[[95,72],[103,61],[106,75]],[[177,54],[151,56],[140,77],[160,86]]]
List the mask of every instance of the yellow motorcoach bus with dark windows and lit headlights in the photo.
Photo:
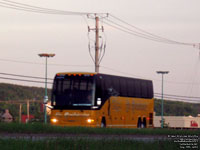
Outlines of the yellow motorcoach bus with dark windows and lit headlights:
[[58,73],[53,83],[51,105],[53,125],[153,127],[153,84],[150,80],[101,73]]

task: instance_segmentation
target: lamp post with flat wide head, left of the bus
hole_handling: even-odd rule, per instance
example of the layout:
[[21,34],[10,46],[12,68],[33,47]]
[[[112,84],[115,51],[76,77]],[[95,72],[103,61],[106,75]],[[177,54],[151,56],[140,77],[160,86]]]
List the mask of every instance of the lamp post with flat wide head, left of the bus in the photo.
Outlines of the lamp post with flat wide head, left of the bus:
[[47,95],[47,58],[54,57],[55,54],[47,54],[47,53],[41,53],[38,54],[40,57],[45,57],[46,63],[45,63],[45,96],[44,96],[44,123],[47,123],[47,114],[46,114],[46,104],[48,101],[48,95]]

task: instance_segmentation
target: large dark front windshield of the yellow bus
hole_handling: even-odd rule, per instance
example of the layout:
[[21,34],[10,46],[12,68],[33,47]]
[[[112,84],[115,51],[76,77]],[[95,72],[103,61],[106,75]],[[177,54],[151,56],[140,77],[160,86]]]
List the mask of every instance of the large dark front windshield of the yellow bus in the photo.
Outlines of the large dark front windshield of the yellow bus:
[[56,75],[52,91],[52,106],[92,106],[94,76]]

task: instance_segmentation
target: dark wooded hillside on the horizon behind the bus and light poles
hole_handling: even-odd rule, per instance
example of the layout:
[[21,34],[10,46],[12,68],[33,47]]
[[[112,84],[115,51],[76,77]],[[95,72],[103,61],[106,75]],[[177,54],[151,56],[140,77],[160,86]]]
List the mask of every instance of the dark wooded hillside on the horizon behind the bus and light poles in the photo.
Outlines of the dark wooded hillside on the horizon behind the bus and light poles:
[[[50,100],[51,89],[48,89],[48,97]],[[42,101],[43,98],[44,88],[0,83],[0,114],[2,114],[5,109],[9,109],[14,118],[18,118],[19,116],[18,104],[2,103],[2,101]],[[30,104],[30,113],[39,117],[42,115],[40,107],[39,103]],[[154,111],[156,115],[161,115],[161,100],[155,99]],[[22,114],[26,114],[26,103],[23,104]],[[164,116],[197,116],[198,114],[200,114],[200,104],[164,100]]]

